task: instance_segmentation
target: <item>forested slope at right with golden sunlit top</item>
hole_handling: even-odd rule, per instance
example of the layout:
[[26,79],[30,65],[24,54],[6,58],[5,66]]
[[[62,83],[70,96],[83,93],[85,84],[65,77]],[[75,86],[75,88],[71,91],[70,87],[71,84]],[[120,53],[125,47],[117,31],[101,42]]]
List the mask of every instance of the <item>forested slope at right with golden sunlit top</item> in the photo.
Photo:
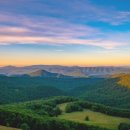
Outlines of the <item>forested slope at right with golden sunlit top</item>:
[[129,79],[130,75],[95,81],[89,79],[88,84],[74,88],[70,93],[89,101],[130,109]]

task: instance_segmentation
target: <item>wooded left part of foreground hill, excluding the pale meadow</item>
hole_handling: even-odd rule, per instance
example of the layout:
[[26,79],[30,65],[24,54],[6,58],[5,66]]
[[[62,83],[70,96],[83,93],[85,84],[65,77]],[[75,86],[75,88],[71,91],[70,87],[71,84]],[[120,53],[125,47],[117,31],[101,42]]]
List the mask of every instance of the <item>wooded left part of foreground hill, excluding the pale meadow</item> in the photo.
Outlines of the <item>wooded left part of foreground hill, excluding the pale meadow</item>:
[[87,125],[59,119],[59,104],[73,102],[71,97],[55,97],[19,104],[0,106],[0,124],[29,130],[108,130],[99,126]]

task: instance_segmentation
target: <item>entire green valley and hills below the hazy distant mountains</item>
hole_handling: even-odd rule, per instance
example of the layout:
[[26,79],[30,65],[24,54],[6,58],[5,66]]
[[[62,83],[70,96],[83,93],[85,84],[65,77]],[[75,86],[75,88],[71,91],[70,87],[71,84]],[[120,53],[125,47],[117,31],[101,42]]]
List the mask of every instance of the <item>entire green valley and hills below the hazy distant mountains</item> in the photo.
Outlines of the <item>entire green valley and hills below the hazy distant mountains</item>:
[[105,75],[82,75],[79,70],[64,75],[30,69],[10,75],[9,70],[0,75],[3,130],[129,130],[130,74],[99,69]]

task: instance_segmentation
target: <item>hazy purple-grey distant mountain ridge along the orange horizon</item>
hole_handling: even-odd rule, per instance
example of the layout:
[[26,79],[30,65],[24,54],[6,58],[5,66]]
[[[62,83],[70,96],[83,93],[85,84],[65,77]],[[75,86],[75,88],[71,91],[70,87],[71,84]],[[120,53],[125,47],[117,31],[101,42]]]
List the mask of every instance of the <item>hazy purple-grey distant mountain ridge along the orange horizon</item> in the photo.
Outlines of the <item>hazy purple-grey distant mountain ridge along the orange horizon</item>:
[[50,73],[58,73],[61,75],[73,77],[87,77],[87,76],[104,76],[119,73],[130,74],[130,67],[79,67],[79,66],[58,66],[58,65],[33,65],[25,67],[5,66],[0,67],[0,74],[23,75],[29,74],[38,70],[45,70]]

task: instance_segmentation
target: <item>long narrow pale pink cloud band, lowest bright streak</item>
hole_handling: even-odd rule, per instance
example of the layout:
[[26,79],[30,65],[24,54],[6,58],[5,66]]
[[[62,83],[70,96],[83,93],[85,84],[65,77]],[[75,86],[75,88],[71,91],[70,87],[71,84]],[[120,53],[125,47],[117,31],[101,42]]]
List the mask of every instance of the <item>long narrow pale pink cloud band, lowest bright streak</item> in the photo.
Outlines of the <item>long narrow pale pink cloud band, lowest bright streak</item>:
[[56,37],[29,37],[29,36],[0,36],[0,44],[81,44],[99,46],[106,49],[112,49],[121,45],[119,42],[103,40],[82,40],[73,38],[56,38]]

